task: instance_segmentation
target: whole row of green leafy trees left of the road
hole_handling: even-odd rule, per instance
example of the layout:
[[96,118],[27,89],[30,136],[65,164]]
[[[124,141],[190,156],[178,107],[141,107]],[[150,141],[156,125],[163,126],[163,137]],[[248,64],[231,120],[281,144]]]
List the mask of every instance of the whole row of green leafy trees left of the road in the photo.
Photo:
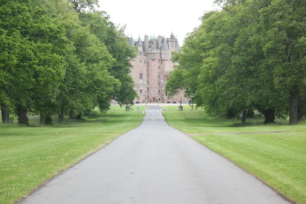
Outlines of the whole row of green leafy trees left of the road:
[[115,99],[133,104],[130,73],[136,56],[124,27],[96,11],[97,0],[0,0],[0,105],[2,120],[28,112],[41,124],[80,118]]

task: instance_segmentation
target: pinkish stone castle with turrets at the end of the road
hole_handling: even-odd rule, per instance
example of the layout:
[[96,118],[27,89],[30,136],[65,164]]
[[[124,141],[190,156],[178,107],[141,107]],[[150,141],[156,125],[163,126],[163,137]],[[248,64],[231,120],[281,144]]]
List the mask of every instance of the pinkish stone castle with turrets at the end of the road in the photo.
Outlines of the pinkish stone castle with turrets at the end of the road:
[[173,63],[170,60],[172,52],[179,52],[179,41],[171,33],[170,38],[162,36],[149,37],[144,36],[142,41],[140,36],[138,41],[134,42],[131,37],[129,44],[137,46],[138,52],[136,58],[131,60],[133,68],[131,75],[135,82],[134,89],[138,97],[134,104],[138,103],[187,103],[184,97],[184,91],[173,97],[167,97],[165,85],[168,75],[173,70]]

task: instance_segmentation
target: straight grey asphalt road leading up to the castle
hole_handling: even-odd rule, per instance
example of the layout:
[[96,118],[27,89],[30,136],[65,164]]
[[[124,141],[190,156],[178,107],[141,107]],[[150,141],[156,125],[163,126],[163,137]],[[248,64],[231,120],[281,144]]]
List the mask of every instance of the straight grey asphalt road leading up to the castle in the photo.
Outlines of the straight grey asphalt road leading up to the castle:
[[190,137],[160,107],[142,124],[56,176],[20,203],[289,203]]

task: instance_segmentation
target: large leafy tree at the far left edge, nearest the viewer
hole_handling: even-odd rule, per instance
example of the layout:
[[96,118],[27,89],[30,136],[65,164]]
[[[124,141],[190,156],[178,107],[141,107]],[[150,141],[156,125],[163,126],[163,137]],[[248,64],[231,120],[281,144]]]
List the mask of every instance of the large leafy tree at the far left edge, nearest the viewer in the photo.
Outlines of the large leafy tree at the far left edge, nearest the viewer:
[[28,124],[28,109],[41,110],[58,94],[68,41],[47,1],[2,1],[0,9],[3,39],[15,47],[11,52],[4,46],[4,90],[16,107],[18,122]]

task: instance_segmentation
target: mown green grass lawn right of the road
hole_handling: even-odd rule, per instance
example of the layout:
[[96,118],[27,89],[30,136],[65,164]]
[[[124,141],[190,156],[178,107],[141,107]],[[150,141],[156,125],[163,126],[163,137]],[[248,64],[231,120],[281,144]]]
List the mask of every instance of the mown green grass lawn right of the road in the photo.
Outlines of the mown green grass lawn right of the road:
[[237,120],[209,116],[203,110],[163,114],[171,126],[236,163],[288,199],[306,203],[305,123],[289,126],[288,121],[277,120],[275,124],[264,125],[264,119],[258,118],[242,125]]

